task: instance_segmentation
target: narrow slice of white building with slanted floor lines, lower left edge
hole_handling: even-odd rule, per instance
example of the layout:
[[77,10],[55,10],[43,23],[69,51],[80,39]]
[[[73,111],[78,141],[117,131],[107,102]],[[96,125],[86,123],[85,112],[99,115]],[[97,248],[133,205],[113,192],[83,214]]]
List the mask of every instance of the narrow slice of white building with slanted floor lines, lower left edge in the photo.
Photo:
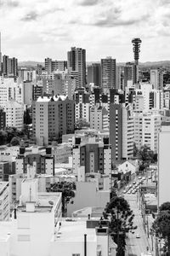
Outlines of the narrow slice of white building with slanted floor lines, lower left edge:
[[7,221],[10,218],[8,183],[0,182],[0,221]]

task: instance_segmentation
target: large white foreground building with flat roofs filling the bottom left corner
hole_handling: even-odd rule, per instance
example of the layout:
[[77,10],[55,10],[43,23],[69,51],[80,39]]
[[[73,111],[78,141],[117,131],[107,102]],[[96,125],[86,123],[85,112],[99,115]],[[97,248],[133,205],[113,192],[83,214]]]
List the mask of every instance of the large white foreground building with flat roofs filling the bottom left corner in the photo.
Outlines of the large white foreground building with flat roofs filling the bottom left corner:
[[89,219],[61,220],[61,193],[37,193],[37,180],[23,180],[21,190],[11,221],[0,223],[1,256],[75,256],[85,251],[109,256],[106,226],[92,226]]

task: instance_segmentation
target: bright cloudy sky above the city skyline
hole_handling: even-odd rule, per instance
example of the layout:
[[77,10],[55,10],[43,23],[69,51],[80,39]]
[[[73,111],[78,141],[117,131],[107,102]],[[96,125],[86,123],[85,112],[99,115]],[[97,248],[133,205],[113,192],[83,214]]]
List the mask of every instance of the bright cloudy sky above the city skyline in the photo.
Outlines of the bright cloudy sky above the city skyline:
[[139,61],[165,61],[170,0],[0,0],[0,32],[3,55],[19,61],[66,60],[72,46],[87,61],[133,61],[132,38]]

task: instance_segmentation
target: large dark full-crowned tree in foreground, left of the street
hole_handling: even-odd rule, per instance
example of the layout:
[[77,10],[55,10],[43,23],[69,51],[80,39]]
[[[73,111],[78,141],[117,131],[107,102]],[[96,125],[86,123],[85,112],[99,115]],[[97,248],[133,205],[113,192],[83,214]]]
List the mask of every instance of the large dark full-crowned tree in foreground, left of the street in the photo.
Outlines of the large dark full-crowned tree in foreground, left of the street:
[[107,203],[104,218],[110,217],[110,233],[117,244],[117,256],[123,256],[126,246],[126,235],[137,228],[133,225],[134,214],[123,197],[113,196]]

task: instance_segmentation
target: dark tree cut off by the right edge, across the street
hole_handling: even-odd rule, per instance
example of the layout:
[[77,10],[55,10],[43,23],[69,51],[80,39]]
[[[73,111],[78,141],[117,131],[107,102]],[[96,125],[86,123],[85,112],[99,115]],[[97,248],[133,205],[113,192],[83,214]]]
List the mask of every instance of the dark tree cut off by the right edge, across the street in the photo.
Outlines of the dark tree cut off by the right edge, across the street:
[[150,232],[159,240],[164,241],[164,255],[170,255],[170,202],[165,202],[159,208],[159,213],[155,219]]

